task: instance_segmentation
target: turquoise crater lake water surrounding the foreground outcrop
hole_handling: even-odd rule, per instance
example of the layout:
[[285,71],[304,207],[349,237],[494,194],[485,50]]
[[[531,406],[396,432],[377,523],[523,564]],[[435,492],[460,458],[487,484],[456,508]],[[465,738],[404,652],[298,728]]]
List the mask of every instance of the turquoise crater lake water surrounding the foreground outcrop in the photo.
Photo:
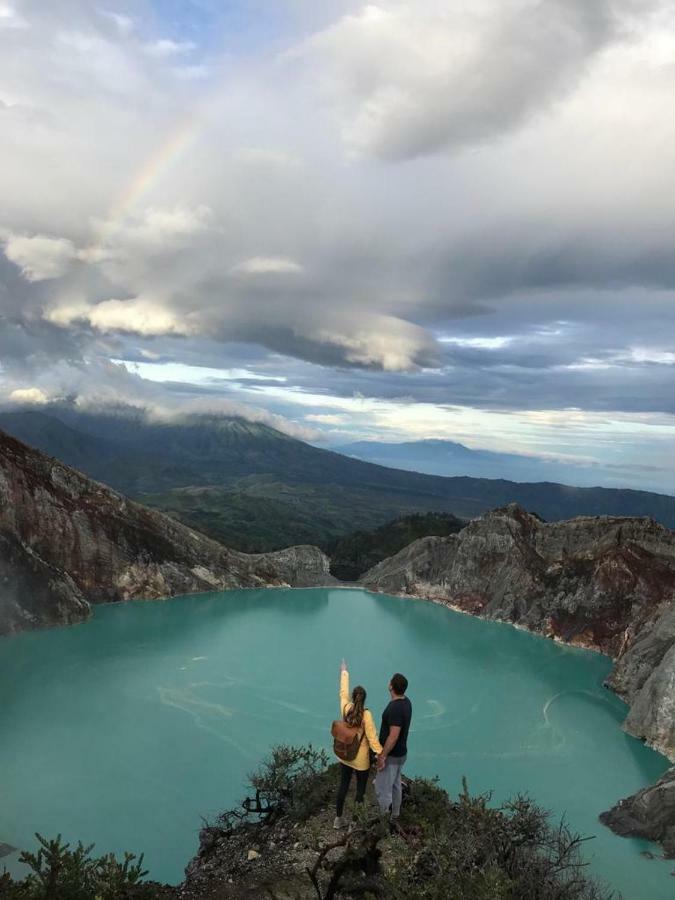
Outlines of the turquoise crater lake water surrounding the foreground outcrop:
[[592,869],[627,900],[672,900],[673,862],[597,822],[668,766],[620,730],[608,659],[361,590],[115,604],[0,640],[0,843],[62,832],[181,880],[200,817],[241,799],[272,744],[329,748],[343,655],[378,717],[391,673],[408,676],[409,774],[453,793],[466,775],[495,802],[528,792],[595,835]]

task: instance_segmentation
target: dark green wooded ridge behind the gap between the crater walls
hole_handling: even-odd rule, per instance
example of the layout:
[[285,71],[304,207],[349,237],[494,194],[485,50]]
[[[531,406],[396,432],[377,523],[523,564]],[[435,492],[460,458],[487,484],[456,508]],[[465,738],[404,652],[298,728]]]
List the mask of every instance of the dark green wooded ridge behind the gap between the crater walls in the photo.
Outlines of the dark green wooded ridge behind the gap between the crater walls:
[[415,513],[394,519],[373,531],[355,531],[322,549],[330,557],[330,570],[336,578],[356,581],[368,569],[413,541],[429,535],[456,534],[464,524],[451,513]]

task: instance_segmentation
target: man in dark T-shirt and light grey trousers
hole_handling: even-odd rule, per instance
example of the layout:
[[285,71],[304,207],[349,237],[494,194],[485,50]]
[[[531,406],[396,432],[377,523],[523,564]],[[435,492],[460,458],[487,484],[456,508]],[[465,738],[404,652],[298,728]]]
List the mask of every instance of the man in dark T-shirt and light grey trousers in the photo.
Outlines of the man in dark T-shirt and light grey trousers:
[[391,809],[392,819],[401,812],[401,769],[408,753],[408,731],[412,719],[412,703],[406,697],[408,679],[399,672],[389,682],[391,700],[382,713],[380,743],[382,753],[377,758],[375,795],[382,812]]

